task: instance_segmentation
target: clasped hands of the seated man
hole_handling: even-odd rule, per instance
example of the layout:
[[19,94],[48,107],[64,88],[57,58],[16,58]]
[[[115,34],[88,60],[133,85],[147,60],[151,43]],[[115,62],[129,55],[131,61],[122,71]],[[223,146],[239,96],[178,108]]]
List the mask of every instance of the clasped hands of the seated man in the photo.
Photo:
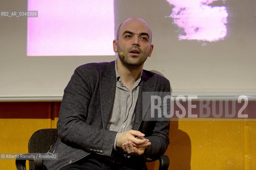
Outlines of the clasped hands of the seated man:
[[144,136],[145,134],[135,130],[118,133],[117,147],[131,155],[142,155],[145,149],[151,145],[148,139],[143,138]]

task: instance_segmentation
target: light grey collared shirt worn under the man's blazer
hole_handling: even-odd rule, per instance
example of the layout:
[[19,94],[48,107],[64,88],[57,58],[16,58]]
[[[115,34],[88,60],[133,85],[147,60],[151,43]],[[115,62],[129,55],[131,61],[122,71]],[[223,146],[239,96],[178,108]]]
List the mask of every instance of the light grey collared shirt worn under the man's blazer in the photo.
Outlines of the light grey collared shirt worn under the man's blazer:
[[[142,72],[129,90],[123,86],[120,74],[117,70],[117,60],[115,60],[116,87],[112,114],[107,129],[115,132],[124,132],[133,128],[134,110],[139,94],[139,82],[141,82]],[[117,136],[115,137],[114,148]]]

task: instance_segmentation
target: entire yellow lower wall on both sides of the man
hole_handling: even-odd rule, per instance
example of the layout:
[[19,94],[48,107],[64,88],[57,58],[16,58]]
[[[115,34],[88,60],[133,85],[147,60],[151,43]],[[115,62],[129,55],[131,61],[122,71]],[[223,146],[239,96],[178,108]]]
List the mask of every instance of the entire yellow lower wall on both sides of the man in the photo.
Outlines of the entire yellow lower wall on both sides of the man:
[[[58,118],[0,119],[0,153],[26,153],[31,135],[56,128]],[[202,120],[202,119],[201,119]],[[256,169],[256,121],[172,121],[169,169],[226,170]],[[150,163],[157,169],[158,163]],[[0,169],[15,169],[15,160],[0,160]]]

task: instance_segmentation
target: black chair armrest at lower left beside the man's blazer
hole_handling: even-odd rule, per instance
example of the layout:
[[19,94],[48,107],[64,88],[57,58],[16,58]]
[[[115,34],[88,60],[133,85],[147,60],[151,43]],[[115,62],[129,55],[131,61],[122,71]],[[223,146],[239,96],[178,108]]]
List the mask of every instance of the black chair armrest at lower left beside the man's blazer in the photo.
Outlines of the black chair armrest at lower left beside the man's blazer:
[[[27,157],[32,157],[32,158],[26,158]],[[35,163],[35,170],[42,169],[43,168],[43,159],[36,158],[37,154],[22,154],[19,155],[16,158],[15,164],[17,170],[26,170],[26,160],[34,161]]]

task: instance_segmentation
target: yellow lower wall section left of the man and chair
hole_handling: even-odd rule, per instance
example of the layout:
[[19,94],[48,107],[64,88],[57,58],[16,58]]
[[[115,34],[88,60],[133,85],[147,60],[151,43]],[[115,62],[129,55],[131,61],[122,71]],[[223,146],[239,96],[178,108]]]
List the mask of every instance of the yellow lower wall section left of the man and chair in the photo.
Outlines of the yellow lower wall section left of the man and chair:
[[[51,119],[0,119],[0,153],[27,153],[28,141],[31,135],[39,129],[46,128],[52,128]],[[15,160],[0,160],[0,169],[16,169]]]

